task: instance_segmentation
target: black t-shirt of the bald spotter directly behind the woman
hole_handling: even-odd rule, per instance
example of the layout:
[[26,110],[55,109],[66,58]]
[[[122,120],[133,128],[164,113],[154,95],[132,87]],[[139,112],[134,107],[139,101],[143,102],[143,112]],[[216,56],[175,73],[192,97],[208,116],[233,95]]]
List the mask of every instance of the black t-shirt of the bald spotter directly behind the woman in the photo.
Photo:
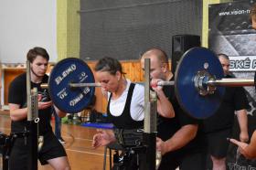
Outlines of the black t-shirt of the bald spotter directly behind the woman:
[[[174,86],[164,86],[163,87],[165,96],[168,98],[174,107],[175,117],[174,118],[165,118],[158,114],[157,117],[157,136],[160,137],[163,141],[171,138],[182,126],[187,124],[198,124],[198,121],[190,117],[186,112],[182,110],[180,105],[176,100],[175,87]],[[199,146],[198,134],[195,139],[190,143],[187,143],[186,146],[179,149],[178,151],[196,149]]]

